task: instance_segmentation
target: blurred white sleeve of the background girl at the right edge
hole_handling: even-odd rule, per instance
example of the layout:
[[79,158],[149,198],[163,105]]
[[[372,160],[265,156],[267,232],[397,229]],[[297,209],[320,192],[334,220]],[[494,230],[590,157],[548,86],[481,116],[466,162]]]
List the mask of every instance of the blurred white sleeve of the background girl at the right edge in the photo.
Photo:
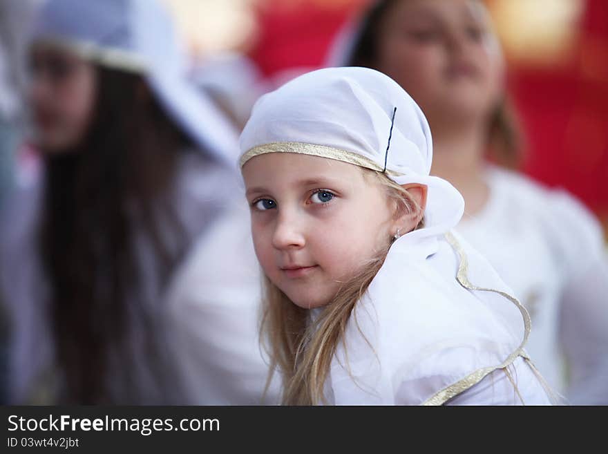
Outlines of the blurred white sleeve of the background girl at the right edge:
[[608,404],[608,254],[602,229],[580,202],[555,193],[563,264],[560,342],[567,361],[571,404]]

